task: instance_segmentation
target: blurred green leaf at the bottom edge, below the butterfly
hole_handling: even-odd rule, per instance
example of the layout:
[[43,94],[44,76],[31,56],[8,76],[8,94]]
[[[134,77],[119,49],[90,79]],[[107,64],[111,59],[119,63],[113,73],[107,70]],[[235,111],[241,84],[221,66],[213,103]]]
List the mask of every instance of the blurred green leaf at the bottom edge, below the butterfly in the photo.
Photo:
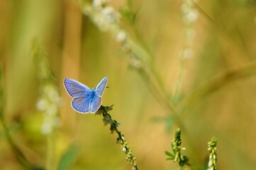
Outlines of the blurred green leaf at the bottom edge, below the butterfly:
[[78,151],[79,148],[77,145],[72,145],[69,147],[67,152],[65,152],[60,159],[59,170],[71,169],[72,164],[74,164],[74,161],[77,158]]

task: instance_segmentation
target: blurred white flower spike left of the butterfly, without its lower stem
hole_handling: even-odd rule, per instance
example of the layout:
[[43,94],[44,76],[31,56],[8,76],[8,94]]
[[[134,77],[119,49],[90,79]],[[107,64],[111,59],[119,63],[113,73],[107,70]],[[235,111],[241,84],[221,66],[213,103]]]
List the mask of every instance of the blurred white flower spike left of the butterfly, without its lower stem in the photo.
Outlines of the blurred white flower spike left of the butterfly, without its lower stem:
[[48,135],[60,126],[59,107],[62,98],[55,81],[52,79],[52,70],[46,53],[38,42],[35,42],[34,46],[33,57],[37,66],[40,91],[36,108],[43,114],[41,132],[44,135]]

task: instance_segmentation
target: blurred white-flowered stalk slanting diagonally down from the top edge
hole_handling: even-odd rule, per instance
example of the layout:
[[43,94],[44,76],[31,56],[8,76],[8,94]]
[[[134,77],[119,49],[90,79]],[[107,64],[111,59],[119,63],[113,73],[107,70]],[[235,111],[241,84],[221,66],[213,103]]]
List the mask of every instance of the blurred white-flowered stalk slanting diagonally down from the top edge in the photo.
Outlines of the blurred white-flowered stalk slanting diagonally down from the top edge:
[[130,67],[140,74],[160,105],[167,109],[172,120],[184,130],[182,120],[179,119],[173,103],[169,101],[165,86],[153,67],[152,56],[121,27],[121,14],[104,0],[94,0],[92,4],[86,0],[78,0],[78,2],[84,15],[89,16],[99,30],[110,33],[121,44],[123,51],[129,57]]

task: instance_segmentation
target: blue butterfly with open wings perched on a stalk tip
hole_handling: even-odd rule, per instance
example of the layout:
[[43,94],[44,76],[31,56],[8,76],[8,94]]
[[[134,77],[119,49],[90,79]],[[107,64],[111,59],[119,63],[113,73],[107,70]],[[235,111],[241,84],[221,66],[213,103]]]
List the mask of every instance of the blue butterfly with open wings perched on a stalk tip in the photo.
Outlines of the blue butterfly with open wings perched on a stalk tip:
[[108,83],[108,77],[104,77],[96,88],[89,89],[73,79],[64,79],[64,86],[73,98],[71,106],[79,113],[95,113],[101,107],[101,97]]

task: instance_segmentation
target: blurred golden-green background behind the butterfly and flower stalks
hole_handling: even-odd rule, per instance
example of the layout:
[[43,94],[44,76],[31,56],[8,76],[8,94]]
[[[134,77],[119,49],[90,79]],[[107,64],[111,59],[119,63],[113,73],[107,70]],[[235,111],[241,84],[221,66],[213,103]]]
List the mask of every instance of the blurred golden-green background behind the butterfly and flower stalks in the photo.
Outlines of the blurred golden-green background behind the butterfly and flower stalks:
[[[130,169],[116,133],[111,135],[100,115],[75,113],[62,84],[69,77],[91,88],[108,76],[102,104],[114,105],[110,114],[121,123],[139,169],[179,169],[165,155],[177,128],[194,169],[206,169],[213,136],[218,169],[256,169],[256,1],[107,5],[120,12],[120,26],[152,56],[145,64],[154,68],[158,90],[130,67],[122,43],[91,22],[77,1],[0,1],[1,104],[7,131],[28,162],[62,169],[66,155],[69,169]],[[133,13],[135,21],[121,11]],[[60,122],[45,134],[46,113],[38,103],[49,84],[61,97],[54,108]],[[176,113],[156,97],[161,90]],[[1,125],[0,169],[23,169],[5,132]]]

